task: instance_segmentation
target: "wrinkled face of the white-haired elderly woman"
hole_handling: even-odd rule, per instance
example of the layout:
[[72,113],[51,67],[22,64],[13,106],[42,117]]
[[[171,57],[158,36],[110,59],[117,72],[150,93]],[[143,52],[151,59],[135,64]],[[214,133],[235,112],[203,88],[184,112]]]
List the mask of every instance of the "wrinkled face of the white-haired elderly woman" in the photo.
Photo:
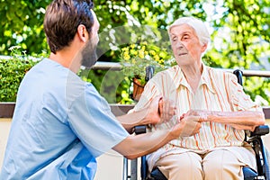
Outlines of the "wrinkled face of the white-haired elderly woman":
[[206,45],[200,43],[194,29],[188,24],[171,28],[170,38],[177,64],[181,66],[200,64]]

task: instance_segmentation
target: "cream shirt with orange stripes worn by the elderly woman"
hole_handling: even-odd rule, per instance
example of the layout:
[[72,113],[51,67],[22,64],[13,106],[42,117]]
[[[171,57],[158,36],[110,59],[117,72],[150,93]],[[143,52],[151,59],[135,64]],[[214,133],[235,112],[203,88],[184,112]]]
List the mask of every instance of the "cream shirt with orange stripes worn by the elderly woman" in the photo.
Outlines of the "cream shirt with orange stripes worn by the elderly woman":
[[[176,116],[169,122],[150,127],[150,131],[162,130],[172,127],[177,119],[189,110],[208,110],[220,112],[236,111],[262,111],[262,109],[251,101],[244,93],[237,77],[229,72],[203,66],[201,80],[198,88],[193,92],[187,83],[179,66],[171,67],[163,72],[157,73],[148,81],[139,102],[132,111],[144,108],[157,95],[162,95],[175,101],[177,107]],[[169,154],[195,151],[205,153],[213,148],[226,148],[239,154],[245,164],[252,166],[255,157],[250,147],[244,143],[244,130],[236,130],[229,125],[216,122],[202,122],[199,133],[191,137],[179,137],[166,144],[163,148],[148,156],[148,164],[151,169],[160,157]],[[241,152],[243,150],[243,152]],[[235,152],[237,151],[237,152]],[[247,151],[247,152],[245,152]],[[246,153],[246,155],[241,155]],[[250,157],[251,156],[251,157]],[[251,161],[247,162],[247,158]],[[254,160],[252,160],[254,158]]]

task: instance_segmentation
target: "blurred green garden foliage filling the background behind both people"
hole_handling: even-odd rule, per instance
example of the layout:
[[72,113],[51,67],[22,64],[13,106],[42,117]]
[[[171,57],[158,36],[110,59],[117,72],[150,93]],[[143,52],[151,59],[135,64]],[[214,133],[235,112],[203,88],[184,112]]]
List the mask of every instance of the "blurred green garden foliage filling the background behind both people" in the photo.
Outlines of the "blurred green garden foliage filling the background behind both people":
[[[42,23],[50,0],[0,2],[0,102],[14,102],[24,74],[49,55]],[[167,26],[180,16],[193,15],[205,21],[211,32],[205,64],[270,71],[269,0],[95,0],[94,12],[100,23],[98,61],[120,62],[121,49],[138,40],[153,40],[171,53]],[[120,83],[115,81],[119,71],[87,69],[80,76],[92,82],[109,103],[134,103],[130,79],[123,76]],[[270,104],[269,77],[245,77],[244,87],[257,103]]]

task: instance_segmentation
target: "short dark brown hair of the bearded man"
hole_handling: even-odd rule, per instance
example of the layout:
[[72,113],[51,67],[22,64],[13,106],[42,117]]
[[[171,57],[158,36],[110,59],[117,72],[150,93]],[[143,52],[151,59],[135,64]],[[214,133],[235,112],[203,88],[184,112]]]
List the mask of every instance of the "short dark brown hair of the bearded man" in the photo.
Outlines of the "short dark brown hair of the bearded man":
[[49,4],[43,25],[52,53],[70,45],[80,24],[85,25],[88,33],[92,31],[93,7],[91,0],[54,0]]

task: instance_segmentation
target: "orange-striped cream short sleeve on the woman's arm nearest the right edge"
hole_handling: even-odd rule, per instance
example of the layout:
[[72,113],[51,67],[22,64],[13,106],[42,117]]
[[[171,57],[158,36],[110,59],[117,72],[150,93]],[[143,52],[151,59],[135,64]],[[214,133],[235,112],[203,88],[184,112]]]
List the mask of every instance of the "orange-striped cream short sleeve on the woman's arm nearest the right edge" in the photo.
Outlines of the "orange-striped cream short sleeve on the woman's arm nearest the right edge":
[[232,74],[227,74],[229,87],[230,104],[233,111],[262,111],[262,108],[254,103],[250,96],[245,94],[242,85],[238,84],[238,79]]

